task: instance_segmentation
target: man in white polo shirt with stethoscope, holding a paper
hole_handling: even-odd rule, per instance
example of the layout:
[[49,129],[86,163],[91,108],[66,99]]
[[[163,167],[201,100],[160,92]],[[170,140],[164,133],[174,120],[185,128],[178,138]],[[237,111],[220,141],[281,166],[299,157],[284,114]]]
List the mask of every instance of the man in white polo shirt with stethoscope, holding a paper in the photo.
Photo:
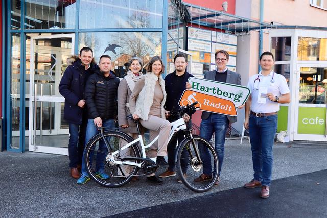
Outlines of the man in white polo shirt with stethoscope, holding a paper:
[[272,53],[262,53],[259,64],[262,71],[250,77],[247,85],[251,95],[245,103],[244,127],[249,129],[254,174],[252,181],[246,183],[244,187],[261,186],[260,197],[268,198],[277,112],[279,103],[291,101],[291,94],[285,77],[272,70],[274,66]]

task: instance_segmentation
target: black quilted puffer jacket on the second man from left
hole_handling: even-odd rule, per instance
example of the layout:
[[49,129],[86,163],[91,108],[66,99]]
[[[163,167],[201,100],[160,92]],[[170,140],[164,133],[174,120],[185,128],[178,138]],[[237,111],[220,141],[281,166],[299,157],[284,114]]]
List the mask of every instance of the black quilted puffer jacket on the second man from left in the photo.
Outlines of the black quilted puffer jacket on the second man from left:
[[119,78],[113,72],[105,77],[98,71],[89,77],[85,87],[88,118],[114,119],[117,115],[117,89]]

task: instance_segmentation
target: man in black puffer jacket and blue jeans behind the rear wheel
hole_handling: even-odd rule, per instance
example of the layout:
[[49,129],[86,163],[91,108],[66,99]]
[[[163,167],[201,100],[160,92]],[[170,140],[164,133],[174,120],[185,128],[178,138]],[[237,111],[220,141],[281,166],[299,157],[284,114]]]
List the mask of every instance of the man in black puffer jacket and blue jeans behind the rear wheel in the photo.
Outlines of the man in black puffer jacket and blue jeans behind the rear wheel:
[[[85,100],[88,108],[88,123],[85,143],[99,133],[98,127],[114,128],[114,119],[117,116],[117,89],[120,80],[111,71],[111,67],[111,57],[102,55],[99,60],[100,70],[96,74],[91,75],[87,81]],[[103,141],[100,141],[96,157],[95,174],[101,179],[109,178],[109,175],[104,171],[106,154],[106,145]],[[92,158],[90,158],[91,161]],[[77,184],[85,184],[89,180],[90,177],[86,171],[86,163],[83,158],[82,174],[77,180]]]

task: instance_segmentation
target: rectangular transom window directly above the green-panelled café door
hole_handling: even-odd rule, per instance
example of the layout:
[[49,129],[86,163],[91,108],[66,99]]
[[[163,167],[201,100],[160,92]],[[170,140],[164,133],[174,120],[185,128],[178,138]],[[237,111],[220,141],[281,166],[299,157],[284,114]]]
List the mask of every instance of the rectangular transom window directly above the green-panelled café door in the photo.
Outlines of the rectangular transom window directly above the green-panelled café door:
[[297,60],[299,61],[326,61],[327,38],[299,37]]

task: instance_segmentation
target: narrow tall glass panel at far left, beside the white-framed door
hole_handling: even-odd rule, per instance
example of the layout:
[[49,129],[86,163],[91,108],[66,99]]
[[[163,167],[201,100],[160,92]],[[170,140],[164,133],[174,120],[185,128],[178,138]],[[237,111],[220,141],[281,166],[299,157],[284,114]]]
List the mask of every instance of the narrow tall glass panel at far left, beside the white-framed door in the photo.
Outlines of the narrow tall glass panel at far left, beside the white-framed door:
[[[10,102],[11,102],[11,130],[20,130],[20,34],[11,35],[11,74],[10,74]],[[19,149],[19,134],[13,134],[11,148]]]

